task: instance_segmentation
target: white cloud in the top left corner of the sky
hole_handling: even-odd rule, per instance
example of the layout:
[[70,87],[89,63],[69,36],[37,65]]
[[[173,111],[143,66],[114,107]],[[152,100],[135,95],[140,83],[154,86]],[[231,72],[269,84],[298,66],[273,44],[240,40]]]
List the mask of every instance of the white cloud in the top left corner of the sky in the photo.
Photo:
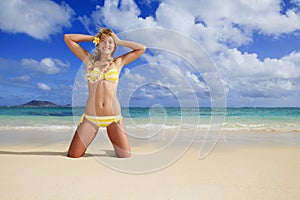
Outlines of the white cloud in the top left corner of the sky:
[[65,3],[50,0],[0,1],[0,29],[10,33],[25,33],[45,40],[64,27],[71,26],[74,11]]

